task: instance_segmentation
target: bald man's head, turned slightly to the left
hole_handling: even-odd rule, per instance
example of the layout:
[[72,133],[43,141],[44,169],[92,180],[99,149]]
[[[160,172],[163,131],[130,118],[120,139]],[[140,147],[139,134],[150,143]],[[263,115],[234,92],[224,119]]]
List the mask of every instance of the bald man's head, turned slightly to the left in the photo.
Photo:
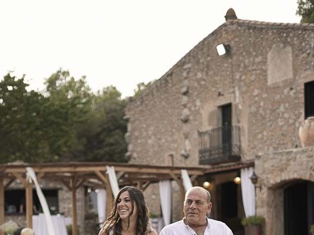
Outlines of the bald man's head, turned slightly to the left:
[[207,202],[207,194],[201,189],[192,189],[184,200],[184,215],[187,223],[200,226],[206,223],[206,215],[210,212],[211,203]]

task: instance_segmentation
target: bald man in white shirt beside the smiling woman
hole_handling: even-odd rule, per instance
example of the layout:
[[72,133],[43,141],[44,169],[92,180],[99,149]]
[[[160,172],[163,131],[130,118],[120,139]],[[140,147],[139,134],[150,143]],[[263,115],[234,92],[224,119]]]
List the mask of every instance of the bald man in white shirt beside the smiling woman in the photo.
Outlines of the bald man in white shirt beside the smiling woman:
[[207,218],[210,210],[209,191],[190,188],[185,193],[183,219],[165,226],[159,235],[233,235],[225,223]]

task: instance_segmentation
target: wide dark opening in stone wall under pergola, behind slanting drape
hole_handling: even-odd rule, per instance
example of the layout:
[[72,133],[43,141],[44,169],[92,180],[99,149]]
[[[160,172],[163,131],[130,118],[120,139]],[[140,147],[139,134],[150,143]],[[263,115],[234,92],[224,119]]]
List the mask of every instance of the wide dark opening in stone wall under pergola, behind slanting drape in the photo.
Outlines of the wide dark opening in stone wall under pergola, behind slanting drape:
[[[44,189],[43,194],[47,200],[48,207],[52,214],[59,211],[58,207],[58,190],[57,189]],[[25,189],[10,189],[4,192],[4,205],[6,214],[25,213],[26,200]],[[33,189],[33,213],[43,212],[40,205],[39,198],[36,190]]]

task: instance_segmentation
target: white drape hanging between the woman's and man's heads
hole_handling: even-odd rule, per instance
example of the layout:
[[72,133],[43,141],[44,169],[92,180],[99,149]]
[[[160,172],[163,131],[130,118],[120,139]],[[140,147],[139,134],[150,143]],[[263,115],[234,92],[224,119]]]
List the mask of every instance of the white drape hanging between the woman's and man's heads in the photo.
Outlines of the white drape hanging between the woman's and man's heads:
[[171,184],[170,180],[159,181],[160,204],[165,225],[171,221]]

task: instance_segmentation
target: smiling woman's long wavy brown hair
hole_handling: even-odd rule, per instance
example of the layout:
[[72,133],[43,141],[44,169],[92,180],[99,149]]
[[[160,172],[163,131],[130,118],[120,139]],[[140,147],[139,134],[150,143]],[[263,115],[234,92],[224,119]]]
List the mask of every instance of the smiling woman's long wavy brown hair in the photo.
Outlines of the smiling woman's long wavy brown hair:
[[147,231],[148,228],[148,221],[149,221],[149,211],[146,207],[146,203],[144,200],[143,193],[135,187],[132,186],[125,186],[124,188],[121,188],[118,195],[114,198],[112,209],[110,211],[110,215],[108,219],[103,224],[103,233],[102,235],[109,235],[109,232],[112,231],[112,235],[121,235],[122,232],[122,225],[121,225],[121,219],[118,214],[118,199],[121,195],[121,193],[128,191],[130,194],[131,204],[132,204],[132,211],[128,217],[128,228],[130,226],[130,216],[133,213],[134,210],[134,203],[137,206],[137,221],[136,221],[136,234],[137,235],[146,235],[149,231]]

